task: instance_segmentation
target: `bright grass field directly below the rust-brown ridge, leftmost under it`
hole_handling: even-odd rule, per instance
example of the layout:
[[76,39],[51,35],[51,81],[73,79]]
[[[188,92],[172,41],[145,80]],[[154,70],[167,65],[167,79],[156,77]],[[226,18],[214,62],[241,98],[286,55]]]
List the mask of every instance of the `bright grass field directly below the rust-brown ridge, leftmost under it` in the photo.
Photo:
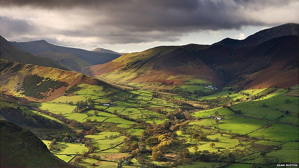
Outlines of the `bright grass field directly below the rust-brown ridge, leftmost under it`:
[[36,105],[38,108],[48,110],[55,114],[67,114],[71,113],[76,106],[65,104],[65,103],[31,103],[30,105]]

